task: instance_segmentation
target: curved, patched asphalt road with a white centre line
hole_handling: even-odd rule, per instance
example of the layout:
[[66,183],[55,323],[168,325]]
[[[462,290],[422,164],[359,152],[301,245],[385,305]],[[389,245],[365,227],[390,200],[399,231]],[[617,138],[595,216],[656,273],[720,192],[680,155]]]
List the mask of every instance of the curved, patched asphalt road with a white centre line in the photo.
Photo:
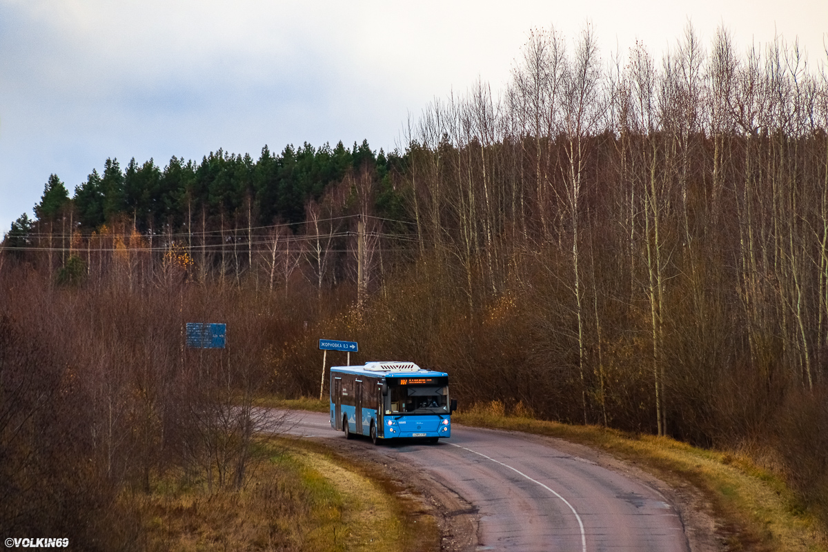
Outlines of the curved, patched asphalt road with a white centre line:
[[[295,412],[291,434],[344,439],[328,415]],[[366,454],[406,463],[473,504],[476,550],[686,552],[681,518],[647,485],[539,439],[455,425],[439,444],[357,439]]]

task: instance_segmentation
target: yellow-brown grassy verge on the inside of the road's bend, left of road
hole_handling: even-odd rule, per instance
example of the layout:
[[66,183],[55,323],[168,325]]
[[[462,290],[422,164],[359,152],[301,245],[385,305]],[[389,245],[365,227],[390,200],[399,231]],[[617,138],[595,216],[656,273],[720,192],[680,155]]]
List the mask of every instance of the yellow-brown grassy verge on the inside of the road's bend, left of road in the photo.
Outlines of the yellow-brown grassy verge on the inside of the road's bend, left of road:
[[[340,552],[439,548],[436,526],[391,483],[320,445],[266,439],[269,462],[239,492],[208,494],[172,478],[124,500],[144,520],[143,550]],[[419,521],[419,523],[416,523]],[[416,525],[415,525],[416,524]],[[432,524],[433,525],[433,522]]]

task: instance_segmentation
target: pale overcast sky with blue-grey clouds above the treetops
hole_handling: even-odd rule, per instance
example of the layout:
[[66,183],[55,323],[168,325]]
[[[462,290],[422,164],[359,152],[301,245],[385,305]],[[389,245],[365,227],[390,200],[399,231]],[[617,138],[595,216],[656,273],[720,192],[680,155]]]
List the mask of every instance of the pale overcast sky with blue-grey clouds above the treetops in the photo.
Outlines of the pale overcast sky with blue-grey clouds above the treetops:
[[0,229],[107,157],[393,150],[431,99],[497,94],[532,27],[571,41],[588,20],[604,60],[636,39],[659,57],[688,20],[705,46],[724,25],[740,50],[781,35],[826,60],[828,0],[0,0]]

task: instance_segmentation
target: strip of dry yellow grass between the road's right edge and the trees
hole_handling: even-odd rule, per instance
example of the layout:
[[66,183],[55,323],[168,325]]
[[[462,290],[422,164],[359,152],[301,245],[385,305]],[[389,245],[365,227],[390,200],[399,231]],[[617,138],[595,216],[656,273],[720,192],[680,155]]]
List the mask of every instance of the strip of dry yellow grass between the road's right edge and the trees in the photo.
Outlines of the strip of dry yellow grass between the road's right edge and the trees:
[[826,550],[814,516],[802,510],[782,478],[747,456],[697,449],[674,439],[627,434],[598,426],[535,420],[516,408],[506,415],[499,401],[455,414],[455,423],[548,435],[604,450],[675,486],[690,482],[710,500],[724,522],[730,550]]

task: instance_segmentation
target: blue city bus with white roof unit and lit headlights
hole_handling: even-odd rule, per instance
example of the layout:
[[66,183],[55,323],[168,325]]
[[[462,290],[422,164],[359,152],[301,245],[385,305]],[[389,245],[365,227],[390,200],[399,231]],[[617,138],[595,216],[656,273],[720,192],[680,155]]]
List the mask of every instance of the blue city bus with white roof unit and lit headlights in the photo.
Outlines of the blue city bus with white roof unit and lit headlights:
[[345,437],[421,438],[451,436],[449,375],[413,362],[367,362],[330,368],[330,426]]

